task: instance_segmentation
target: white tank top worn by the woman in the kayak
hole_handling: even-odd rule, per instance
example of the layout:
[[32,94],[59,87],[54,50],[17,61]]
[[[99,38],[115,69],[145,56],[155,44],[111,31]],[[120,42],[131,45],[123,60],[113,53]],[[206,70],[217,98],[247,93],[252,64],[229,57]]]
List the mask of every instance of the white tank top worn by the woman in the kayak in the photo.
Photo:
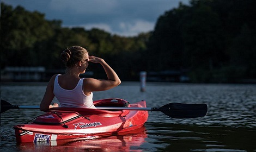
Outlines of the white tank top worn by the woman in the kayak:
[[60,103],[60,107],[86,107],[96,109],[93,104],[93,92],[90,96],[86,96],[83,92],[83,79],[78,81],[78,84],[73,90],[66,90],[60,87],[58,83],[59,75],[56,75],[54,80],[53,93]]

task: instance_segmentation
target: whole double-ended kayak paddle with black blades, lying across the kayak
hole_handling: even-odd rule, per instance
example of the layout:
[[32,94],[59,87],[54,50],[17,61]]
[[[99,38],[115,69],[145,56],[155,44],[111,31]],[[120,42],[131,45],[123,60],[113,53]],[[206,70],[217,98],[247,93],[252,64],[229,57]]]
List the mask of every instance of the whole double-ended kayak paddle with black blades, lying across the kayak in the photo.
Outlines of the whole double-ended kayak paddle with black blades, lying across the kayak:
[[[206,104],[181,104],[169,103],[161,107],[96,107],[101,110],[143,110],[161,111],[172,118],[196,118],[204,117],[207,113]],[[39,106],[12,105],[1,99],[1,113],[9,109],[39,109]]]

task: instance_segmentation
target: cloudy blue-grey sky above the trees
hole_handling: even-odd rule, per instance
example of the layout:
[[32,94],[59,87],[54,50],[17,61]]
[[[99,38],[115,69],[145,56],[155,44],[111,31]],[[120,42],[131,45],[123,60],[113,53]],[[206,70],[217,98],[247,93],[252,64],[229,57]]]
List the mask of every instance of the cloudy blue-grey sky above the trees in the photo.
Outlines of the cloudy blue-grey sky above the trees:
[[100,28],[112,34],[135,36],[154,29],[157,18],[189,0],[2,0],[16,7],[62,20],[63,27]]

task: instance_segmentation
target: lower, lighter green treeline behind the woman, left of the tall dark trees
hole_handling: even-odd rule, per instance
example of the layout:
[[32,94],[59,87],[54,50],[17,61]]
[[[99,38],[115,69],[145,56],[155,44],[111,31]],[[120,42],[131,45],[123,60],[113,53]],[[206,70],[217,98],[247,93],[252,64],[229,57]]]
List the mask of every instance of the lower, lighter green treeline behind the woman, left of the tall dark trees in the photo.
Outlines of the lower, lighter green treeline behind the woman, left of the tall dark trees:
[[[66,47],[82,46],[89,54],[100,56],[124,80],[138,80],[144,69],[141,53],[146,50],[149,33],[136,37],[111,35],[100,29],[63,28],[62,21],[45,20],[40,12],[29,12],[1,3],[1,68],[5,66],[44,66],[65,69],[60,53]],[[104,74],[100,65],[90,64],[96,77]],[[97,71],[97,70],[100,71]],[[105,76],[105,75],[104,75]]]

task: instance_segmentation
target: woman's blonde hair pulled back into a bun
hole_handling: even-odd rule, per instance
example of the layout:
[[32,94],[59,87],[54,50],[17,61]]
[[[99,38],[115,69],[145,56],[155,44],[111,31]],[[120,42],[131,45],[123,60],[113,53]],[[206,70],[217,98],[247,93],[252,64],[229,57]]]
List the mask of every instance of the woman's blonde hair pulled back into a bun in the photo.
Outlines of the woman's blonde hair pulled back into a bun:
[[72,46],[66,48],[62,54],[60,54],[60,59],[62,59],[66,67],[74,67],[78,61],[83,60],[86,54],[88,54],[88,51],[85,48]]

